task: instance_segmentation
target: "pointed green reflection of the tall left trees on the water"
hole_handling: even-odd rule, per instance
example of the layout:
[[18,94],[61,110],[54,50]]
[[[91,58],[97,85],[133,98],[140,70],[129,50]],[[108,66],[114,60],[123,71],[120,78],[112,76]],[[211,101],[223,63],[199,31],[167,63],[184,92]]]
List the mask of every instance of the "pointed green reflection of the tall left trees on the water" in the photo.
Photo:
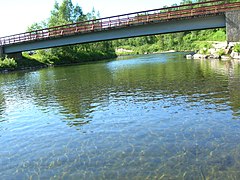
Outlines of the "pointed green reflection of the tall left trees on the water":
[[68,125],[84,125],[97,103],[108,102],[109,77],[101,64],[42,70],[33,87],[35,100],[42,107],[56,105]]

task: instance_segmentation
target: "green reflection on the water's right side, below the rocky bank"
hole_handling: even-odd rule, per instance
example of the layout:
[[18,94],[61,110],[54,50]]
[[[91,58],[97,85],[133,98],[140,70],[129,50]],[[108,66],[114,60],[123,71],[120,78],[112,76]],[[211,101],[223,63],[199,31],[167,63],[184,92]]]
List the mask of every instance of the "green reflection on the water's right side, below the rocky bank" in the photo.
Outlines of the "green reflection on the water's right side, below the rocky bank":
[[[114,82],[118,81],[119,84],[127,79],[130,88],[141,88],[141,91],[147,92],[148,96],[151,96],[151,92],[159,92],[163,95],[185,96],[187,101],[205,101],[214,104],[230,101],[229,105],[235,112],[240,110],[238,65],[229,66],[226,62],[219,61],[181,61],[180,59],[178,57],[176,61],[172,59],[167,63],[146,62],[139,66],[133,65],[132,68],[131,65],[128,68],[124,65],[123,68],[121,65],[116,68],[114,67],[116,62],[113,62],[110,69],[117,69],[114,73]],[[213,66],[216,68],[213,69]],[[221,74],[224,69],[227,73]]]

